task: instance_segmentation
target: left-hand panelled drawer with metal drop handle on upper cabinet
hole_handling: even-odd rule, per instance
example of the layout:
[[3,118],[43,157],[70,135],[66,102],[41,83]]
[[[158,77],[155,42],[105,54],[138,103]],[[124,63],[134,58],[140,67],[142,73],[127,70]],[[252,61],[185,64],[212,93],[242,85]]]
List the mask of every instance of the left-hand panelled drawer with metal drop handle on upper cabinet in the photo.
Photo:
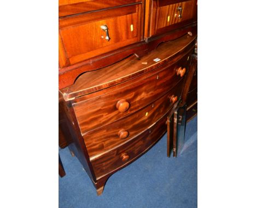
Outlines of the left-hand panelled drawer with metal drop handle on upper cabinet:
[[141,41],[141,18],[141,3],[61,17],[60,67]]

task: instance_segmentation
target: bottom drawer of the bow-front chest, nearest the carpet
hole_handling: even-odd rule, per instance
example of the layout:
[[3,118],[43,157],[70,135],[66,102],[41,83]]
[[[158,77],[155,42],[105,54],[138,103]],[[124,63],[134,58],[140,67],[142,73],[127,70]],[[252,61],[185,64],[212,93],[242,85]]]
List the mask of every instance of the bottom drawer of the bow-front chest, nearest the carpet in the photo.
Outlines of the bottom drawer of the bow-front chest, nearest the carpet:
[[126,166],[152,147],[165,133],[166,119],[167,114],[130,142],[91,161],[96,178],[102,178],[104,175]]

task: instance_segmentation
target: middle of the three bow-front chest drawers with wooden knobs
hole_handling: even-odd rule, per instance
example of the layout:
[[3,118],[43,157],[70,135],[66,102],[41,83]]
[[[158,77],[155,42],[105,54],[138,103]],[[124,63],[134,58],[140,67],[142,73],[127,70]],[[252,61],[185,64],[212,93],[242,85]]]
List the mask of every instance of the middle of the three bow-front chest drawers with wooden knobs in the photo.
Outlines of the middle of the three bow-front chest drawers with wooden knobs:
[[146,130],[168,112],[181,96],[183,80],[167,94],[160,97],[140,111],[132,113],[112,124],[90,131],[84,135],[84,141],[90,158],[97,157],[118,145],[126,143],[132,137]]

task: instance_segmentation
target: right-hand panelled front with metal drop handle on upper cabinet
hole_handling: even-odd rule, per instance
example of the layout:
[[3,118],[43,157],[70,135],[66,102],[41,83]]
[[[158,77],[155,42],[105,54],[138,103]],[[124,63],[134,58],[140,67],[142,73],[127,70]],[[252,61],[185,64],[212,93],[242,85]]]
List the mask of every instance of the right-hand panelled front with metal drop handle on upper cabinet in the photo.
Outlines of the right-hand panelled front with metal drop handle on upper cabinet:
[[[146,37],[177,29],[196,20],[197,0],[153,0]],[[147,12],[147,11],[146,11]]]

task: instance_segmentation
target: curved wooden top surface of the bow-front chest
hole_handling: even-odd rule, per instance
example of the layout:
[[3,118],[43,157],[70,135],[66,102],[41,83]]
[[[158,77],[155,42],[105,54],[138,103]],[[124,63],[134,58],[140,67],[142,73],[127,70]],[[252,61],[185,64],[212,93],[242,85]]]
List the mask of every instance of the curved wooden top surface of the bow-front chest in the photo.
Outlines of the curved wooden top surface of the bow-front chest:
[[[115,84],[127,81],[133,77],[142,75],[150,70],[170,62],[176,62],[188,53],[194,44],[196,36],[185,35],[182,38],[160,44],[155,51],[148,53],[139,59],[133,55],[120,62],[95,71],[86,72],[78,77],[75,83],[67,88],[61,89],[65,100],[74,99],[88,93],[111,87]],[[184,48],[186,48],[185,51]],[[183,52],[179,54],[179,52]],[[159,58],[159,62],[154,59]],[[125,69],[125,70],[124,70]]]

